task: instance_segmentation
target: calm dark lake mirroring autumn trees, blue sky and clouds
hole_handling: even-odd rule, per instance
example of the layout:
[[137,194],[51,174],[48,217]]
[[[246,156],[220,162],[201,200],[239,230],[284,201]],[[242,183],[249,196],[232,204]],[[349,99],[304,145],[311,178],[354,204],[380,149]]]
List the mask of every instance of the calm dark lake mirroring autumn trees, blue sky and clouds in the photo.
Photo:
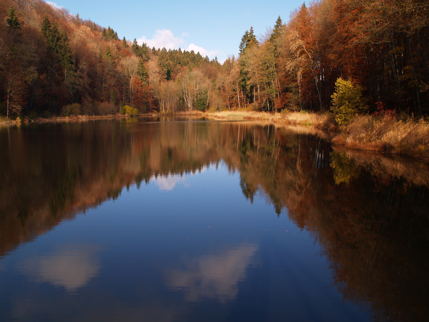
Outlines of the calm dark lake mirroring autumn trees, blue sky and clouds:
[[0,129],[1,321],[428,321],[429,171],[264,122]]

